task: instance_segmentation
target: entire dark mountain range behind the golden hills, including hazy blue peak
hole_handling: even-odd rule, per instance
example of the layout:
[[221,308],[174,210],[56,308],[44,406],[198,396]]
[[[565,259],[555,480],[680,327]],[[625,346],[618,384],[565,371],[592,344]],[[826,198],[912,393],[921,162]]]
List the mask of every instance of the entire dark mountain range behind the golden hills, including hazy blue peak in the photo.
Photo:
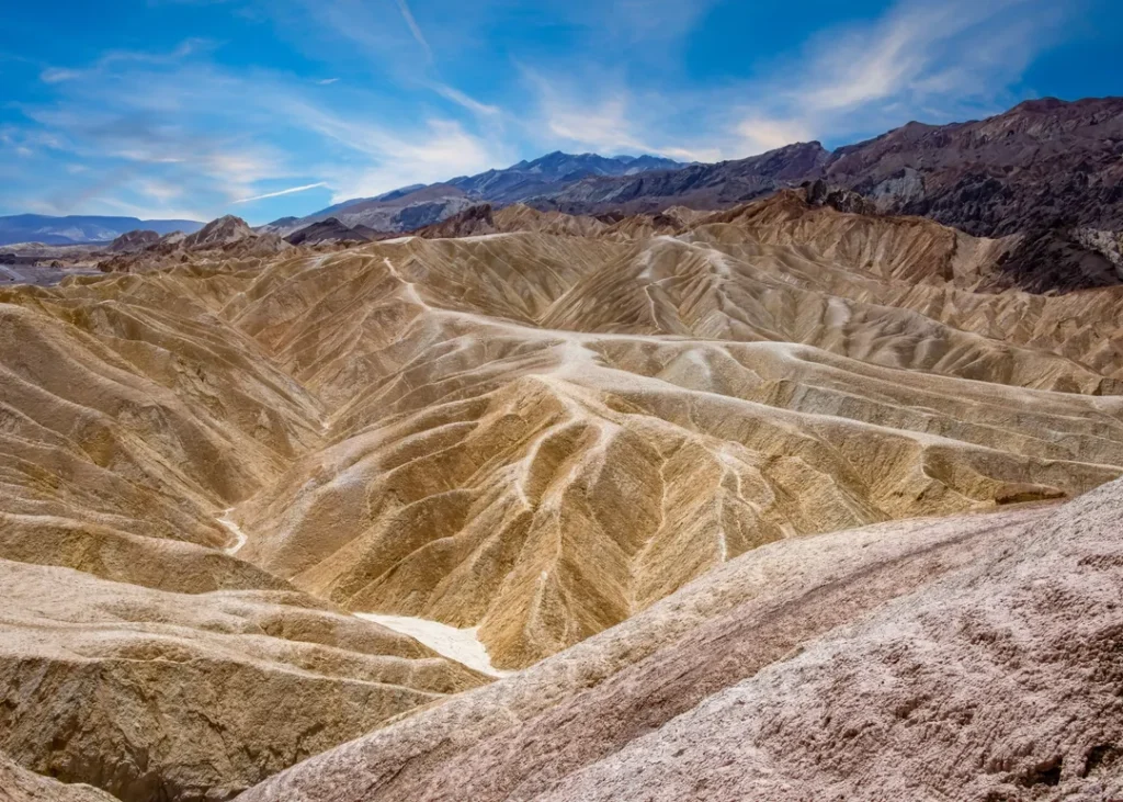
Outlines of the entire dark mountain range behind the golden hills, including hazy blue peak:
[[289,235],[334,217],[345,227],[396,234],[481,202],[583,216],[714,210],[815,181],[858,192],[877,211],[928,217],[976,236],[1020,236],[1008,257],[1020,285],[1074,290],[1123,281],[1121,98],[1033,100],[980,121],[909,122],[833,152],[797,143],[718,164],[554,153],[346,201],[265,230]]

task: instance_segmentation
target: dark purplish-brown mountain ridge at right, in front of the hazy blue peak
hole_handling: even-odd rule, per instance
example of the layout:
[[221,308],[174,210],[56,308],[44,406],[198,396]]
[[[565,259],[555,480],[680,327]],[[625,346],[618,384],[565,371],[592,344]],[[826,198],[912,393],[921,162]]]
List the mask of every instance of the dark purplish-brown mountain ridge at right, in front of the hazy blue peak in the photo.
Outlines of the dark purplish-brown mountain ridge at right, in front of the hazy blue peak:
[[[1123,283],[1123,98],[1033,100],[973,122],[910,122],[828,153],[789,145],[733,162],[579,181],[529,203],[573,215],[721,209],[823,181],[878,211],[983,237],[1020,235],[1011,286],[1071,291]],[[865,211],[865,209],[857,209]]]

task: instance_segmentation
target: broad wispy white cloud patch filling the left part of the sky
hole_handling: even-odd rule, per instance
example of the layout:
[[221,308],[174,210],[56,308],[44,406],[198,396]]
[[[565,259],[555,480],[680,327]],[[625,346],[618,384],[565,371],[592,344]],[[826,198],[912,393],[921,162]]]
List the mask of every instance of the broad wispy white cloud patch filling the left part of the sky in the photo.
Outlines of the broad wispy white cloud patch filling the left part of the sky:
[[[53,102],[21,109],[71,158],[99,165],[84,189],[73,186],[79,175],[53,197],[60,211],[103,203],[115,191],[127,206],[179,208],[181,198],[166,191],[177,185],[217,216],[230,204],[321,186],[343,200],[515,161],[506,145],[464,120],[429,113],[389,121],[380,97],[358,86],[325,98],[316,82],[241,74],[207,57],[174,64],[102,57],[75,72],[55,84]],[[474,118],[500,112],[446,84],[430,89]],[[284,179],[293,185],[272,189]]]

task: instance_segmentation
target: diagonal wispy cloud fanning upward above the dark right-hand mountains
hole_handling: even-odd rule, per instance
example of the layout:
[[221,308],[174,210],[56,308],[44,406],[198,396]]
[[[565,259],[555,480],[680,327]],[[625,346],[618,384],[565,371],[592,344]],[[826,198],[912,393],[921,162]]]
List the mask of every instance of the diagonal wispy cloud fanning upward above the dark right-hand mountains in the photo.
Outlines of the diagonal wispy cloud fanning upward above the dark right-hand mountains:
[[745,88],[759,100],[738,131],[761,146],[784,131],[840,138],[998,111],[1070,12],[1046,0],[904,0],[865,25],[821,33],[797,63],[778,62]]

